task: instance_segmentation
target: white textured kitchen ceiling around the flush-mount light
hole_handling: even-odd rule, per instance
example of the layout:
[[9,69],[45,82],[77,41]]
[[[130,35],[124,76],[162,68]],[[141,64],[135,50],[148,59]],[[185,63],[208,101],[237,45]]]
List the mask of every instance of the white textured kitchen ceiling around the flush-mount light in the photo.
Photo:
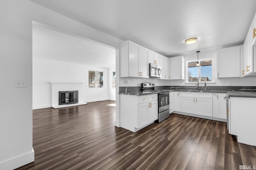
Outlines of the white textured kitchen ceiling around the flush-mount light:
[[256,12],[256,0],[30,1],[167,57],[241,45]]

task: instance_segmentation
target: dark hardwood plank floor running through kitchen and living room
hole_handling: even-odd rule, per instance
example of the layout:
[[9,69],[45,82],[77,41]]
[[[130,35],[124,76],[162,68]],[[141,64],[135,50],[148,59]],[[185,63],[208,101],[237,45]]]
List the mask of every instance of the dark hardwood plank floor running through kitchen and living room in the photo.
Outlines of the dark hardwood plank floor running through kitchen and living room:
[[33,111],[35,161],[18,170],[239,170],[256,147],[236,142],[226,123],[171,114],[133,133],[114,126],[114,101]]

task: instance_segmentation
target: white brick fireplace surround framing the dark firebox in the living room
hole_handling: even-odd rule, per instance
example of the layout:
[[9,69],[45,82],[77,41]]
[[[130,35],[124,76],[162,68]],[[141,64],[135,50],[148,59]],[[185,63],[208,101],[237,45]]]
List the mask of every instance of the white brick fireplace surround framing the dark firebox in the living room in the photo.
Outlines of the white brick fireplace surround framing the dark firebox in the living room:
[[[83,102],[84,99],[84,83],[66,83],[66,82],[51,82],[52,84],[52,107],[54,109],[60,107],[78,106],[87,104]],[[77,104],[63,104],[59,105],[59,92],[62,91],[75,91],[78,90],[78,103]]]

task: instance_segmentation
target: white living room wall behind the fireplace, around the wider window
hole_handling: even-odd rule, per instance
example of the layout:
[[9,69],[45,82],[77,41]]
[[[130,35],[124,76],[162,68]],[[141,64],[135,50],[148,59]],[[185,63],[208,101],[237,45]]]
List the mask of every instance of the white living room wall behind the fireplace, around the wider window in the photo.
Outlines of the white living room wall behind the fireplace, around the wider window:
[[[104,88],[88,88],[88,70],[104,71]],[[83,102],[109,99],[109,69],[33,58],[33,109],[52,107],[50,82],[84,82]]]

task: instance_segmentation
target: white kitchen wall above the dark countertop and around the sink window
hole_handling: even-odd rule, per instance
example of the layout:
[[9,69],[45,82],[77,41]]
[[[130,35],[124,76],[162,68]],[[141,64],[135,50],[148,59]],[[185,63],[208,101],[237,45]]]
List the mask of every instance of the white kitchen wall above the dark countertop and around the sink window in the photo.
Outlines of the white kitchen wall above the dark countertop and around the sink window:
[[[241,77],[241,78],[217,78],[216,75],[216,56],[217,50],[204,51],[199,53],[199,59],[214,58],[214,82],[208,83],[207,86],[227,86],[226,82],[231,82],[231,86],[256,86],[255,77]],[[197,54],[184,55],[185,68],[186,61],[197,60]],[[239,68],[238,68],[239,69]],[[185,71],[186,74],[186,71]],[[125,84],[125,80],[129,80],[129,84]],[[196,86],[195,83],[188,84],[186,80],[160,80],[155,78],[120,78],[120,86],[140,86],[141,83],[152,82],[156,86]]]

